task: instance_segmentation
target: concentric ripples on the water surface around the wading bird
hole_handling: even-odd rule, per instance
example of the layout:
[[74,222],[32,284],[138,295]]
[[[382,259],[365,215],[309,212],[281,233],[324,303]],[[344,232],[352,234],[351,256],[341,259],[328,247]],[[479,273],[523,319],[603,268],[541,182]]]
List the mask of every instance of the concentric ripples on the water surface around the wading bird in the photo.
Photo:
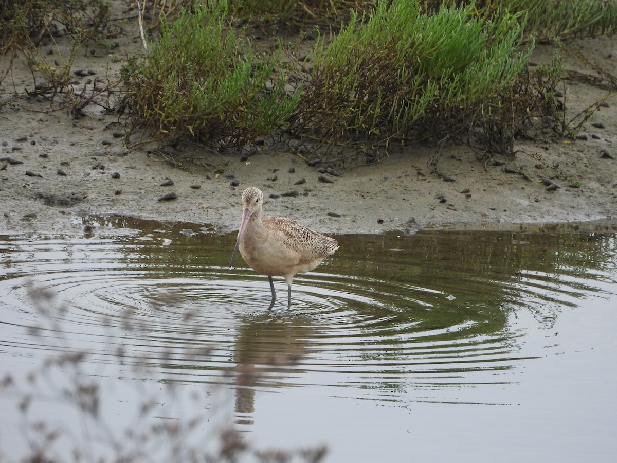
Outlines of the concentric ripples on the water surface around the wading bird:
[[91,362],[147,365],[180,383],[239,385],[252,365],[260,387],[346,388],[373,399],[416,390],[418,401],[466,403],[465,394],[436,391],[511,382],[510,370],[542,355],[522,347],[521,310],[550,325],[564,307],[615,284],[604,264],[591,281],[576,265],[557,277],[526,264],[520,250],[492,262],[480,254],[473,269],[469,261],[424,265],[422,246],[409,255],[417,237],[393,238],[386,247],[397,251],[381,256],[383,248],[365,249],[371,261],[359,264],[354,241],[342,238],[339,260],[294,280],[291,311],[286,283],[276,281],[270,312],[267,279],[224,264],[233,237],[5,240],[2,353],[84,349]]

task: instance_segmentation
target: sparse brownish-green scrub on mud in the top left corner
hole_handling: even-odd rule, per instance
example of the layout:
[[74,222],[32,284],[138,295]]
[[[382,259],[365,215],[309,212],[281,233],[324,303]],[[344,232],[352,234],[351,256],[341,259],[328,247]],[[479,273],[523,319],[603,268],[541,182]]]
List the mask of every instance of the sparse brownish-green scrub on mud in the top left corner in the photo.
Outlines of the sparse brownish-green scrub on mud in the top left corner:
[[[0,84],[15,63],[23,63],[32,75],[32,82],[25,85],[28,96],[68,104],[72,114],[80,117],[81,109],[93,101],[96,92],[85,88],[74,91],[71,68],[85,44],[114,48],[116,43],[108,39],[117,27],[110,23],[109,6],[104,0],[0,2],[0,57],[8,56],[10,63],[0,69]],[[17,95],[22,88],[14,90]],[[0,108],[8,102],[0,99]]]

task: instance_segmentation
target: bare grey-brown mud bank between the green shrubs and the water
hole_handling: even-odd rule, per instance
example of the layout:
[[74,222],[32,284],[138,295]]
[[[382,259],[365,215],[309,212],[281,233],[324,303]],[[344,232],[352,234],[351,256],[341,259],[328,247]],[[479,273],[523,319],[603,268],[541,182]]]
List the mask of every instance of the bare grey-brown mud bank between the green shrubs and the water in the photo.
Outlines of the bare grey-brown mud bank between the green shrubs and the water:
[[[616,38],[569,46],[617,75]],[[138,36],[120,38],[128,56],[140,47]],[[532,61],[547,62],[551,54],[550,46],[538,46]],[[7,64],[5,57],[0,65]],[[121,65],[104,54],[82,54],[74,64],[108,81],[119,78]],[[594,73],[572,58],[566,65]],[[319,173],[319,165],[309,167],[272,143],[248,159],[197,151],[202,166],[174,167],[149,147],[127,149],[119,136],[127,120],[96,104],[73,119],[56,102],[15,96],[15,89],[28,86],[30,71],[16,63],[0,88],[1,98],[10,98],[0,109],[1,235],[80,235],[83,217],[114,214],[229,233],[238,228],[241,193],[249,186],[263,190],[265,214],[291,217],[323,233],[519,230],[521,224],[574,222],[595,229],[617,223],[615,98],[584,123],[577,138],[555,140],[549,134],[545,140],[517,141],[515,156],[494,156],[497,163],[484,162],[486,156],[468,146],[446,146],[439,169],[454,181],[444,181],[431,173],[435,147],[425,144],[392,149],[378,164],[343,169],[342,176]],[[607,94],[593,80],[568,80],[564,90],[571,117]],[[159,201],[166,196],[175,199]]]

